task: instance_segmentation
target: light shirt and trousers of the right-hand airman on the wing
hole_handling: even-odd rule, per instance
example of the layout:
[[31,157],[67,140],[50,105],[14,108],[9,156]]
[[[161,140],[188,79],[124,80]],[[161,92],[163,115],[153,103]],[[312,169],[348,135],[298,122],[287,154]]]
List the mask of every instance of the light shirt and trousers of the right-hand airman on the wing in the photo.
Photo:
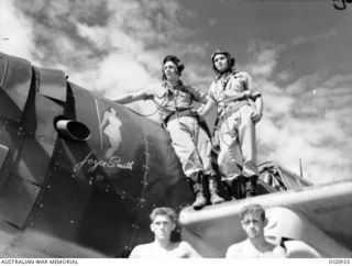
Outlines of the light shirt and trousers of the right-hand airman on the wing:
[[209,89],[209,98],[218,107],[219,169],[222,180],[229,184],[257,175],[255,124],[251,119],[256,97],[261,92],[244,71],[229,73]]

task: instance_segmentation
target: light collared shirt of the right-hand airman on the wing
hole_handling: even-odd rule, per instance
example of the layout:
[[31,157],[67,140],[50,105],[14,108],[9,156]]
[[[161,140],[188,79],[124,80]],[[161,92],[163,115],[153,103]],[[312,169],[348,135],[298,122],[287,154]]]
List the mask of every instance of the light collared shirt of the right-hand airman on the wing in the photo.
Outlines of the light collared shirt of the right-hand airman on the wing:
[[253,100],[261,96],[248,73],[235,71],[212,81],[208,96],[217,103],[220,112],[226,102],[231,102],[231,99],[241,97],[244,92]]

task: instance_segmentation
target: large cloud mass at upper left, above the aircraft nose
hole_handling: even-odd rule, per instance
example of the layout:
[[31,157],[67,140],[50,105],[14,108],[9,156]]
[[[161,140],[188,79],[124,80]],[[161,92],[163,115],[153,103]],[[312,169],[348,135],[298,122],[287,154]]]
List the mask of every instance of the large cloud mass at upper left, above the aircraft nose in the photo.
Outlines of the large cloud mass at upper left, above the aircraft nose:
[[[4,52],[63,69],[70,81],[110,99],[155,82],[166,54],[193,58],[206,48],[187,43],[193,12],[177,1],[4,0],[2,10],[1,23],[13,25],[9,37],[18,44]],[[187,66],[193,69],[191,78],[199,79],[197,67]],[[150,104],[133,106],[144,110]]]

